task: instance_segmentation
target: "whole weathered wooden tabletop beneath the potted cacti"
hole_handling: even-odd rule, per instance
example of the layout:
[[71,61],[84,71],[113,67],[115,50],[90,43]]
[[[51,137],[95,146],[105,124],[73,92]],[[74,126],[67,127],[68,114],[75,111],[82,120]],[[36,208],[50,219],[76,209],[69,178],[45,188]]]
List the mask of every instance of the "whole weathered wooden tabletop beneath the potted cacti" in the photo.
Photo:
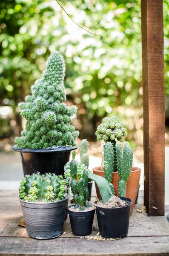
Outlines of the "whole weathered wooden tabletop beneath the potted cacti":
[[[94,201],[94,196],[92,201]],[[143,197],[139,196],[137,207]],[[37,240],[27,236],[19,227],[23,218],[17,191],[0,191],[0,256],[168,256],[169,223],[165,217],[148,217],[136,211],[130,217],[128,236],[115,241],[80,239],[71,233],[69,218],[65,221],[64,235],[49,240]],[[98,233],[95,216],[91,236]]]

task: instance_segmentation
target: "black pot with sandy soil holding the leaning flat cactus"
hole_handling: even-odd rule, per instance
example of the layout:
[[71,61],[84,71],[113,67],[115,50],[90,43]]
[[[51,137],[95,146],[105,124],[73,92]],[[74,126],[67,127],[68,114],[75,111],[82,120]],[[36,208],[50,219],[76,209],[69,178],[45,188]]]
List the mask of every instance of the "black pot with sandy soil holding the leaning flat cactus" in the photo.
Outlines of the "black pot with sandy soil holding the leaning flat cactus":
[[101,236],[115,238],[123,237],[128,234],[132,200],[130,198],[119,198],[126,201],[128,205],[115,208],[103,208],[98,207],[97,202],[95,202],[97,221]]

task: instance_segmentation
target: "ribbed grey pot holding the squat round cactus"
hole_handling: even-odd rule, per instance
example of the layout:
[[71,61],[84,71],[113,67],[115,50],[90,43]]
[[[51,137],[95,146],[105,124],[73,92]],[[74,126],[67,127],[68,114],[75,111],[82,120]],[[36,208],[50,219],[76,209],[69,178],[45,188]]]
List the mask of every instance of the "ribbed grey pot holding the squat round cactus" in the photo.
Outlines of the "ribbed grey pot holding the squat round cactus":
[[20,199],[28,236],[50,239],[61,236],[68,197],[50,203],[31,203]]

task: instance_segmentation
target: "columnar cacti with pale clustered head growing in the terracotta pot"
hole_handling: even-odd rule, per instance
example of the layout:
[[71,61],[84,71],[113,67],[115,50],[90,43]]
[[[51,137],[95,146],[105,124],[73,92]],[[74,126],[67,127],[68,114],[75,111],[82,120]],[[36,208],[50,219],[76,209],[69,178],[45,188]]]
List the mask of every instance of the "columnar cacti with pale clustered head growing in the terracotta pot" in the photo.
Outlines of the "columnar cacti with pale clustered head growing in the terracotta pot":
[[[122,148],[123,136],[126,136],[126,123],[120,122],[117,116],[105,117],[103,123],[97,127],[98,140],[104,140],[104,174],[114,194],[112,173],[118,172],[118,195],[125,197],[126,182],[132,169],[133,151],[129,143],[125,142]],[[118,142],[119,141],[119,142]]]

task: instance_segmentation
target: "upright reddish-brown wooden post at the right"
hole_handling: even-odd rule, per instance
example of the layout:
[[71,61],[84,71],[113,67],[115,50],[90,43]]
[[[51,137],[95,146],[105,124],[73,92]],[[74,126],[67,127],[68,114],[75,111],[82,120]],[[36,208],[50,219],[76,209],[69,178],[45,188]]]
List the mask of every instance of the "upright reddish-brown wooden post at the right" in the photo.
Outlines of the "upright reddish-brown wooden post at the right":
[[164,215],[165,107],[163,0],[141,0],[143,60],[144,205]]

